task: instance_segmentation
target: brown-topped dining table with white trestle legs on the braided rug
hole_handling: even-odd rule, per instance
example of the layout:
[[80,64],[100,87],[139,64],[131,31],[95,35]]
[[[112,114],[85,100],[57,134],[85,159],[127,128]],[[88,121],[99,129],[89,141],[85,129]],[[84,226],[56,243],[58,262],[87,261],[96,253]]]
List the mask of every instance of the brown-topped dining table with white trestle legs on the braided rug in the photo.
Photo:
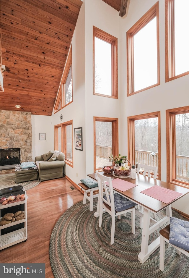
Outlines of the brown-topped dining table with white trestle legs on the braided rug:
[[[189,193],[189,188],[181,187],[172,183],[164,182],[161,180],[156,180],[147,176],[143,176],[142,174],[136,174],[136,179],[131,179],[130,177],[115,177],[113,174],[105,174],[104,172],[101,172],[102,175],[105,175],[107,177],[111,177],[112,183],[113,180],[119,179],[120,184],[123,184],[123,180],[127,181],[129,183],[133,183],[132,188],[123,191],[114,188],[113,190],[123,197],[126,197],[127,199],[137,203],[139,206],[135,207],[135,213],[139,215],[140,217],[140,228],[142,228],[142,238],[141,238],[141,251],[138,255],[138,259],[141,263],[144,263],[149,256],[159,247],[160,244],[160,237],[157,237],[154,239],[153,242],[149,244],[149,236],[151,233],[159,229],[159,227],[162,227],[164,224],[170,223],[170,217],[172,216],[172,203],[177,201],[178,199],[182,198],[184,195]],[[97,180],[96,173],[88,174],[90,178]],[[119,182],[119,180],[116,180],[116,183]],[[160,191],[162,194],[163,201],[160,201],[157,199],[159,196],[157,191]],[[151,192],[154,191],[155,195],[151,197]],[[156,194],[157,192],[157,194]],[[149,195],[146,195],[149,194]],[[152,192],[153,193],[153,192]],[[161,195],[160,194],[160,195]],[[170,198],[168,198],[170,195]],[[173,200],[171,199],[174,198]],[[189,196],[188,196],[189,197]],[[97,203],[97,211],[94,213],[95,217],[98,217],[100,214],[100,202],[98,199]],[[158,217],[157,219],[154,219],[152,217],[152,213],[158,213],[165,209],[165,216],[163,218]]]

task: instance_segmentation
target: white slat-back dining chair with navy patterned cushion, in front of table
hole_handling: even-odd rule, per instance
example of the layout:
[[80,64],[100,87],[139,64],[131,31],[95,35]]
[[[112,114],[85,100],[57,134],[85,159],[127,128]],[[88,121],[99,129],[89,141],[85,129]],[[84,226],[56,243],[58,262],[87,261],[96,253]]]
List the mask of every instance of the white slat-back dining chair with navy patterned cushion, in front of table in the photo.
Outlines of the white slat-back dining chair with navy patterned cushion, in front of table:
[[[100,172],[96,171],[98,188],[99,188],[99,227],[102,225],[102,214],[107,211],[112,217],[111,227],[111,240],[110,243],[114,243],[115,236],[115,217],[121,218],[122,214],[131,212],[131,226],[132,233],[135,234],[135,206],[137,205],[133,201],[113,192],[111,177],[107,177]],[[108,185],[107,185],[108,184]]]

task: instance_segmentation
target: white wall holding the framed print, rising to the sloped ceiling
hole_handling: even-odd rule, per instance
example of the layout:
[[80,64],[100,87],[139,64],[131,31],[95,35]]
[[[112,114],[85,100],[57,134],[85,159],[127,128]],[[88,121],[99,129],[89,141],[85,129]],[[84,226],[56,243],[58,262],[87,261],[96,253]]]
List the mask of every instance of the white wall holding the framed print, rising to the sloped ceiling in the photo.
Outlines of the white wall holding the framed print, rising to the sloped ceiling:
[[[63,115],[62,123],[73,120],[73,161],[74,167],[65,165],[66,176],[76,184],[85,174],[85,17],[84,4],[79,12],[76,28],[72,38],[72,84],[73,102],[52,115],[53,125],[61,123],[60,115]],[[74,128],[83,128],[83,151],[74,148]],[[77,177],[78,176],[78,177]]]

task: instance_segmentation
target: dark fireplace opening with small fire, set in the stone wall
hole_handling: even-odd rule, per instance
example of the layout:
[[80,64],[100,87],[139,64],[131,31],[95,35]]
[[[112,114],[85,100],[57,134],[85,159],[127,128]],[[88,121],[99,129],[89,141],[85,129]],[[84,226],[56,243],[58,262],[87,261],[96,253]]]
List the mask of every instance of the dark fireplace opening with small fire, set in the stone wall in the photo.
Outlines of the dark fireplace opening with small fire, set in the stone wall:
[[20,148],[0,149],[0,169],[9,169],[18,163],[20,163]]

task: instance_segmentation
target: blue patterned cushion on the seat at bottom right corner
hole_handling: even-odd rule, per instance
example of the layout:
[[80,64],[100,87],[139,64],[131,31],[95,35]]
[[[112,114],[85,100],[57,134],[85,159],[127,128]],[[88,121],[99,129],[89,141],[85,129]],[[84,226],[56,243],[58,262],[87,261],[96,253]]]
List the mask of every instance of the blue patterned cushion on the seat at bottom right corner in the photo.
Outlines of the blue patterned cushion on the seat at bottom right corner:
[[189,221],[170,217],[169,242],[189,251]]

